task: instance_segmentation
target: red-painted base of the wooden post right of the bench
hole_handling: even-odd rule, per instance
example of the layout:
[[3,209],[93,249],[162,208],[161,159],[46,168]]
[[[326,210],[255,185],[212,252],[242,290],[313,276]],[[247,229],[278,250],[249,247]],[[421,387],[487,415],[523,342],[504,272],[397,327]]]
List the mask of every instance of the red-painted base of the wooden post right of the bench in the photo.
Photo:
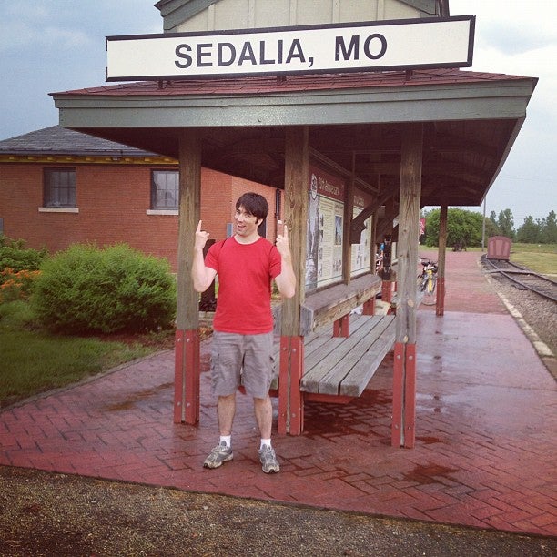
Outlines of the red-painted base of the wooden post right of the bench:
[[390,444],[412,449],[416,441],[416,345],[396,342]]

